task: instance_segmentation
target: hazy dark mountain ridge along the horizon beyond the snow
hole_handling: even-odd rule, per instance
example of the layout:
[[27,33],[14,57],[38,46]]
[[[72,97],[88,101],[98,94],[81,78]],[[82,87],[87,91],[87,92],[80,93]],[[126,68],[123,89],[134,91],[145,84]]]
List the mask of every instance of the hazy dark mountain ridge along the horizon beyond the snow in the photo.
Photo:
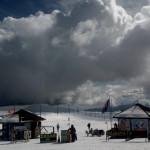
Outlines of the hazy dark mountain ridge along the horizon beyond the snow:
[[[131,107],[133,104],[123,104],[123,105],[117,105],[117,106],[113,106],[112,107],[112,111],[123,111],[129,107]],[[148,104],[143,104],[147,107],[150,107],[150,105]],[[29,111],[32,112],[36,112],[39,113],[41,112],[54,112],[54,113],[69,113],[69,112],[79,112],[79,111],[91,111],[91,112],[101,112],[102,111],[102,107],[98,108],[80,108],[77,107],[76,105],[67,105],[67,104],[60,104],[60,105],[50,105],[50,104],[33,104],[33,105],[23,105],[23,106],[5,106],[5,107],[0,107],[0,111],[8,111],[10,109],[13,109],[15,107],[16,111],[19,109],[27,109]],[[108,110],[109,112],[109,110]]]

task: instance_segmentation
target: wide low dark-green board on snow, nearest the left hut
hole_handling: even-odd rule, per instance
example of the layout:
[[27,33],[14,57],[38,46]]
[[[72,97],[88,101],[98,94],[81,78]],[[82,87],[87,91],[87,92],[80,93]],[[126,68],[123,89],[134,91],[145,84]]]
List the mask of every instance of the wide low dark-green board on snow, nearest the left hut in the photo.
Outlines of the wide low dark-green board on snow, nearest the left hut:
[[40,143],[50,143],[50,142],[56,142],[57,140],[57,134],[56,133],[43,133],[40,134]]

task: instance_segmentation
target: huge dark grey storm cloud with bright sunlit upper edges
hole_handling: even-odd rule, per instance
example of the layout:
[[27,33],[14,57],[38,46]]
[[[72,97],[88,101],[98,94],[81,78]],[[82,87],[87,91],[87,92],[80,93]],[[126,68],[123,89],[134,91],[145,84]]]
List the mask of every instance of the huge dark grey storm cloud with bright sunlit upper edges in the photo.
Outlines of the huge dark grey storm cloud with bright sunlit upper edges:
[[143,75],[149,28],[115,1],[71,2],[66,14],[39,12],[0,23],[0,105],[67,103],[60,97],[87,80]]

